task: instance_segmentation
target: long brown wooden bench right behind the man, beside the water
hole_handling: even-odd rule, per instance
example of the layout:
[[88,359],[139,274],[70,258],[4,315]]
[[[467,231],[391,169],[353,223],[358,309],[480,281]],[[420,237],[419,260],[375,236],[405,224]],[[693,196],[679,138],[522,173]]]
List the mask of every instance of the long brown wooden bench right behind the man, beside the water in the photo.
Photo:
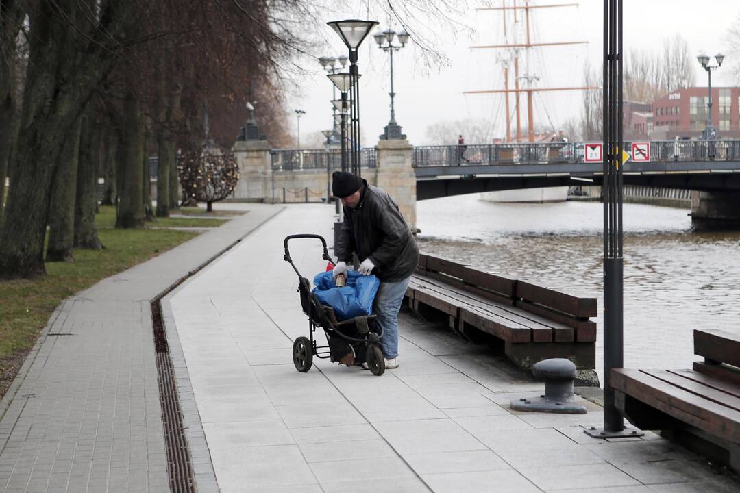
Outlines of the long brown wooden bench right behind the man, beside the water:
[[448,316],[460,333],[471,328],[501,339],[505,354],[528,369],[547,358],[596,366],[596,299],[508,279],[473,265],[420,255],[406,290],[414,311]]

